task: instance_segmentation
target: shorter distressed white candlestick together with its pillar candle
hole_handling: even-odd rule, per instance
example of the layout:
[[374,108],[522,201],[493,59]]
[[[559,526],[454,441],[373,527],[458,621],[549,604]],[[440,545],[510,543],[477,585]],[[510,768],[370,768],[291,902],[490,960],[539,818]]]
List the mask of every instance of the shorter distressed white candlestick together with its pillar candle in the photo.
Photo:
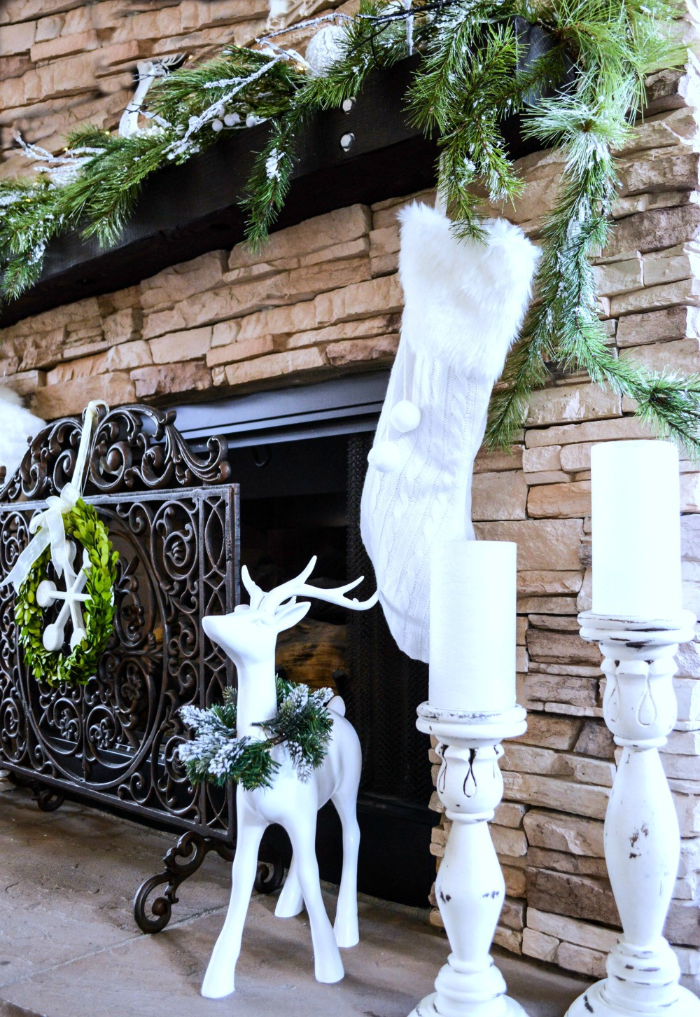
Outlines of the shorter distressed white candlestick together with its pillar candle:
[[516,545],[459,540],[431,561],[429,702],[437,790],[451,821],[435,892],[452,953],[411,1017],[523,1017],[489,953],[505,883],[489,820],[503,797],[501,741],[522,734],[515,703]]

